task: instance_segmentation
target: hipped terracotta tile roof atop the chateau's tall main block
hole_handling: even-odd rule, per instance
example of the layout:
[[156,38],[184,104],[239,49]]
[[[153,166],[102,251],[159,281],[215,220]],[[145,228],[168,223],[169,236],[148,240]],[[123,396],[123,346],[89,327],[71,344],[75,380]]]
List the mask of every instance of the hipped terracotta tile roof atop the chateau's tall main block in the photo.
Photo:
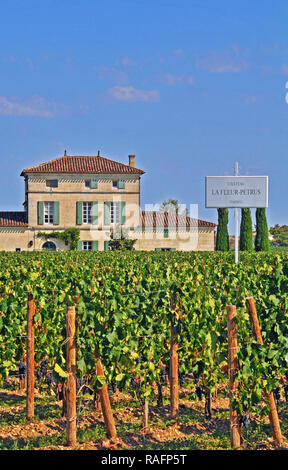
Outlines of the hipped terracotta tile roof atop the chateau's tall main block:
[[64,155],[46,163],[26,168],[25,173],[94,173],[94,174],[138,174],[143,170],[134,168],[124,163],[115,162],[109,158],[98,156]]

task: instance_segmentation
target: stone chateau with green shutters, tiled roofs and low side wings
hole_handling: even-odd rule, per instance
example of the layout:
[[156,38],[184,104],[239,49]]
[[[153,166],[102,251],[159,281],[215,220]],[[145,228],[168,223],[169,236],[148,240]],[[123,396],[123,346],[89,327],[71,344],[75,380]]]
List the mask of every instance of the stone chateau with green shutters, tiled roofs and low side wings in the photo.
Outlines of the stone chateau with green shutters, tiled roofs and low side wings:
[[216,224],[167,211],[141,210],[135,155],[125,165],[97,156],[66,155],[26,168],[22,212],[0,212],[0,250],[68,250],[62,240],[39,238],[80,229],[79,250],[109,250],[111,229],[136,239],[136,250],[214,250]]

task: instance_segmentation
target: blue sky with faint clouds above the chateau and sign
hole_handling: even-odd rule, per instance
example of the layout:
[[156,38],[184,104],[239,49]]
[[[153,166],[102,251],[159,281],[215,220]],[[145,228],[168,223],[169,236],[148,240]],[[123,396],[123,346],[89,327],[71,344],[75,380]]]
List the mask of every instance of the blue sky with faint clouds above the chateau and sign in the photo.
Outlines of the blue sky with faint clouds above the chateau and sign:
[[2,2],[0,210],[22,210],[23,168],[100,150],[136,154],[143,208],[210,221],[205,176],[238,161],[269,176],[269,226],[288,224],[287,18],[285,0]]

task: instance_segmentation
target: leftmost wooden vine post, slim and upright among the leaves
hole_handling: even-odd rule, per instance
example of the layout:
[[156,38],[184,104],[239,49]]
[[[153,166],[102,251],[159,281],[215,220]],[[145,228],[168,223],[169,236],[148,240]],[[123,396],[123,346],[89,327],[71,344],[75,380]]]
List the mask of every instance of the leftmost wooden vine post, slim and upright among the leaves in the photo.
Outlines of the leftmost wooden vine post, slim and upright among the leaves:
[[32,292],[28,292],[27,308],[27,401],[26,417],[34,417],[34,391],[35,391],[35,359],[34,359],[34,314],[35,300]]

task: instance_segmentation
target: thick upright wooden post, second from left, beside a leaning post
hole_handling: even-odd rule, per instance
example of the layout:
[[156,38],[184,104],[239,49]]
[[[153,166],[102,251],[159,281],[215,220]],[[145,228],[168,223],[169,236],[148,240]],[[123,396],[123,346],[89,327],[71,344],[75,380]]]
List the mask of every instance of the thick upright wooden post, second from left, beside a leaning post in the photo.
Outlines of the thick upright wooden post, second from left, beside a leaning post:
[[75,307],[67,307],[67,446],[76,445],[76,344],[75,344]]

